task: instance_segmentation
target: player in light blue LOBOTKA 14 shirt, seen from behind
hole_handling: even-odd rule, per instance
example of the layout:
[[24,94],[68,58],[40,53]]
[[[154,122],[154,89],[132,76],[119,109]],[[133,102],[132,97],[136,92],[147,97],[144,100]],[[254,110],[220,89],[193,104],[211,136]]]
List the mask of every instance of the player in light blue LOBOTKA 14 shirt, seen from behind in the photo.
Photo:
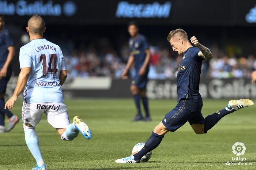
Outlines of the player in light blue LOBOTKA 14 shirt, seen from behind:
[[18,95],[25,88],[22,121],[27,146],[37,161],[37,166],[32,170],[46,170],[35,132],[35,126],[43,113],[62,140],[73,140],[79,132],[90,139],[91,131],[78,116],[74,117],[72,124],[69,123],[61,90],[61,85],[67,78],[65,59],[58,45],[43,38],[44,20],[35,14],[27,25],[30,42],[20,48],[21,71],[14,94],[6,102],[5,108],[12,110]]

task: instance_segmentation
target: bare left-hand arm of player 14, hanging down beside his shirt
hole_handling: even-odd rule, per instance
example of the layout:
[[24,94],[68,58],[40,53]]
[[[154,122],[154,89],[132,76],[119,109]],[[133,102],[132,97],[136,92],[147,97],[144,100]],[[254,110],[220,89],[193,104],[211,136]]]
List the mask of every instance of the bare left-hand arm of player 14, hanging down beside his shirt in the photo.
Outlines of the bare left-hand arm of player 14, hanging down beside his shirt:
[[19,94],[23,91],[29,79],[29,73],[31,71],[30,67],[23,67],[20,70],[18,82],[12,97],[5,103],[4,109],[8,108],[9,110],[13,109],[14,103],[17,101]]

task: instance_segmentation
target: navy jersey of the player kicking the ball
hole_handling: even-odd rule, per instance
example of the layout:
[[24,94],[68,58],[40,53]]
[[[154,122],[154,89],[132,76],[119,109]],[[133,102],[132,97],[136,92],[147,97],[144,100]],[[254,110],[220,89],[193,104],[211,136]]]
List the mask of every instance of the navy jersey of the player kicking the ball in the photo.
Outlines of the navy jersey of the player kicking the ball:
[[177,102],[184,98],[194,102],[202,100],[199,82],[203,58],[198,56],[199,51],[197,47],[190,47],[183,53],[177,74]]

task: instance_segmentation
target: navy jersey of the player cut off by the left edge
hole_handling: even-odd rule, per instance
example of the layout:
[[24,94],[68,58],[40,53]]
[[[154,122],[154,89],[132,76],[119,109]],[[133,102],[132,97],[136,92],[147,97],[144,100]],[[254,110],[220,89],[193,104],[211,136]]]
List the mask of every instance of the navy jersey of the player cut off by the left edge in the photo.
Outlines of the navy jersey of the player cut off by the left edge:
[[0,68],[3,68],[7,59],[8,50],[7,47],[14,45],[12,35],[7,29],[0,31]]

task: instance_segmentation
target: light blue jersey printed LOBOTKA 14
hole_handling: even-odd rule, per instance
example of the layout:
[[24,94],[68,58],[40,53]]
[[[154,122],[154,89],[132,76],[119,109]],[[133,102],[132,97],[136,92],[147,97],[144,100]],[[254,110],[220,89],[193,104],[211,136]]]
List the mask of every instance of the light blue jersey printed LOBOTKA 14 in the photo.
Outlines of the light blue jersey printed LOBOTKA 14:
[[20,68],[31,68],[24,90],[26,103],[64,103],[60,71],[66,69],[66,64],[58,45],[44,38],[33,39],[20,48],[19,62]]

